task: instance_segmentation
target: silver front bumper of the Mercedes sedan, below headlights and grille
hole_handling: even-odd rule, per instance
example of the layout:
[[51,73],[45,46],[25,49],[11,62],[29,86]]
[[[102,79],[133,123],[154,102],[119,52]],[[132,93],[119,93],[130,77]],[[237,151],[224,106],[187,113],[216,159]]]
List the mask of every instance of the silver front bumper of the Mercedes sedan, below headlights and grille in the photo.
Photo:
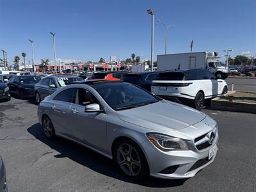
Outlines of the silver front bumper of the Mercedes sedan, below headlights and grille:
[[[180,150],[163,152],[156,148],[149,140],[143,143],[150,175],[162,179],[186,179],[195,176],[197,172],[211,164],[215,157],[208,159],[209,150],[218,143],[218,134],[211,147],[204,150]],[[217,148],[218,149],[218,148]],[[163,170],[168,170],[163,173]]]

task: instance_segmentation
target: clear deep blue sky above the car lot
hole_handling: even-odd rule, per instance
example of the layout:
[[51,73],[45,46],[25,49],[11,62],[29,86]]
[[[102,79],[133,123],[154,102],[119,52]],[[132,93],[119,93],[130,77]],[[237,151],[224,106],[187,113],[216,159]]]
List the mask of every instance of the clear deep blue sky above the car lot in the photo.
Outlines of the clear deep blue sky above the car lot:
[[[0,49],[8,61],[26,52],[35,61],[54,59],[52,36],[56,33],[56,58],[63,61],[125,60],[131,54],[150,59],[151,17],[154,12],[154,60],[164,54],[164,24],[168,53],[234,49],[231,56],[256,53],[255,0],[0,0]],[[2,53],[2,52],[1,52]],[[3,54],[0,53],[0,58]]]

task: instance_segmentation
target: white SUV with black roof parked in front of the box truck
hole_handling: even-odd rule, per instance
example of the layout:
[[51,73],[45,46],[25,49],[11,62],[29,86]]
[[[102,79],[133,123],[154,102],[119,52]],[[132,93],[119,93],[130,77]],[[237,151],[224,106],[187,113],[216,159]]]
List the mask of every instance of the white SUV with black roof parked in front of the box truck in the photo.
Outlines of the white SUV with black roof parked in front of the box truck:
[[223,79],[216,79],[205,69],[161,72],[151,86],[151,92],[155,95],[165,99],[189,99],[198,110],[203,108],[204,99],[219,97],[227,90],[227,83]]

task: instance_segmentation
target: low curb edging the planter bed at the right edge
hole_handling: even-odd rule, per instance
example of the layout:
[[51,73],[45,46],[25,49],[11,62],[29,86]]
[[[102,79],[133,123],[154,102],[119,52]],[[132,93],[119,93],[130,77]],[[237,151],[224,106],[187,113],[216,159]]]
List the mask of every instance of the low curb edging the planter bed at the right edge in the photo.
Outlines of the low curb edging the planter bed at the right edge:
[[211,109],[256,113],[256,104],[247,102],[230,102],[226,100],[220,100],[219,98],[214,98],[211,100]]

